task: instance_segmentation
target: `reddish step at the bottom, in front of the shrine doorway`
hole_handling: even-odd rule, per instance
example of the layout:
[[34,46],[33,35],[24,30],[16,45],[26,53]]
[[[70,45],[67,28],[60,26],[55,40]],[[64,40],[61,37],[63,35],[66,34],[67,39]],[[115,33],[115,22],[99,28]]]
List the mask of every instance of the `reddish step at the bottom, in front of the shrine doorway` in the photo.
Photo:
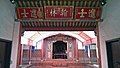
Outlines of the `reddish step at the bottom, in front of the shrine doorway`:
[[86,63],[73,60],[44,60],[39,63],[31,63],[30,68],[95,68]]

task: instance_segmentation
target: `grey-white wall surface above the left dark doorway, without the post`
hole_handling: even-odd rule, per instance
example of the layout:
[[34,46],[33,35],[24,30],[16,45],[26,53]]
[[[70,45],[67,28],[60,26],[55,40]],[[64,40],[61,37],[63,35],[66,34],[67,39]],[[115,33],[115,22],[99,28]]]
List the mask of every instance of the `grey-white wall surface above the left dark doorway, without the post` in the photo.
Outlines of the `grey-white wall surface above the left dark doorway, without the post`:
[[0,0],[0,38],[12,40],[14,5],[10,0]]

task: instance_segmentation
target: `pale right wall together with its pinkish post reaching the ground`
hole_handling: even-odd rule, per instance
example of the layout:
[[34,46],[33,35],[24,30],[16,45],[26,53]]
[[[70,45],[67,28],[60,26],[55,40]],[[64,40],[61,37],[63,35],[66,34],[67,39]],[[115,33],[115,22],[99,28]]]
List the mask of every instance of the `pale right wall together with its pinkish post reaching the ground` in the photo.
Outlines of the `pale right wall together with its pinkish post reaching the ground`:
[[108,68],[105,41],[120,38],[120,0],[107,0],[99,23],[102,68]]

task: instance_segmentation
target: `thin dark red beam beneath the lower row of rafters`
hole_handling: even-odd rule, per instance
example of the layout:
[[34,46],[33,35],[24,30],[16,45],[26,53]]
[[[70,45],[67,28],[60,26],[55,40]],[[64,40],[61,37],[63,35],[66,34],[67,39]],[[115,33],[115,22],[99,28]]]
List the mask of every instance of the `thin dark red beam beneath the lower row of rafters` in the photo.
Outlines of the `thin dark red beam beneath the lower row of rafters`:
[[26,31],[93,31],[95,28],[80,27],[24,27]]

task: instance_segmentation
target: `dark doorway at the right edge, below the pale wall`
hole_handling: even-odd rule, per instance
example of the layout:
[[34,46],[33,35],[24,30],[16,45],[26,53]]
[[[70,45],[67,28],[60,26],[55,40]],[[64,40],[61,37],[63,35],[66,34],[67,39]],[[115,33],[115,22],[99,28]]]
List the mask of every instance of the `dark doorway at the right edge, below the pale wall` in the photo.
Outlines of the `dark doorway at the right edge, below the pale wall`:
[[108,67],[120,68],[120,39],[114,39],[106,42]]

